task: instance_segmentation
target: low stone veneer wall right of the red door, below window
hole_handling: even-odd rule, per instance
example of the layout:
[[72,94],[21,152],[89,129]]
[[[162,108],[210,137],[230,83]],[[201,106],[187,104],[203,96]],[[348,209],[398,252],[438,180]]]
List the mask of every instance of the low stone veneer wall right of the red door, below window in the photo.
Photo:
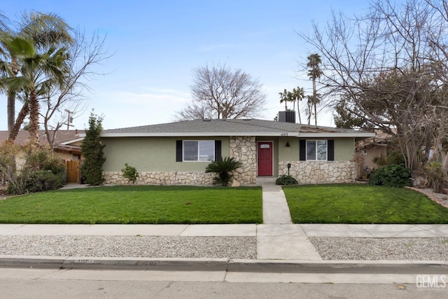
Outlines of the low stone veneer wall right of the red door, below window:
[[353,161],[281,161],[279,176],[288,174],[299,183],[353,183],[356,162]]

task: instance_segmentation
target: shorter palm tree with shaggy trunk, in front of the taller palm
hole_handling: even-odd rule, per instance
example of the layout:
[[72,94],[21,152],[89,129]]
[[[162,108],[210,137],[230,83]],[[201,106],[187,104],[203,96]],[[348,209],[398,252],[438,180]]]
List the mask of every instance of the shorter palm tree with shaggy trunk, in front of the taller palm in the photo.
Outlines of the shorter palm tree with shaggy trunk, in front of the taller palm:
[[14,94],[23,91],[27,95],[24,106],[29,109],[29,139],[32,145],[39,143],[39,102],[38,96],[48,90],[49,85],[64,85],[66,68],[66,48],[50,47],[39,54],[33,41],[17,37],[8,43],[8,50],[21,65],[20,76],[6,78],[8,90]]

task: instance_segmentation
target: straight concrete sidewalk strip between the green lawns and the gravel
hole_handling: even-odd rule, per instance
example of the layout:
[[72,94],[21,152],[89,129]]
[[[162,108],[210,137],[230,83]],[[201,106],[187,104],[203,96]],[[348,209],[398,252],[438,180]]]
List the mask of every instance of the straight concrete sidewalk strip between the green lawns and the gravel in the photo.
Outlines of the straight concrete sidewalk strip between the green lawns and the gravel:
[[[447,224],[0,224],[0,235],[448,237]],[[290,258],[286,258],[290,259]]]

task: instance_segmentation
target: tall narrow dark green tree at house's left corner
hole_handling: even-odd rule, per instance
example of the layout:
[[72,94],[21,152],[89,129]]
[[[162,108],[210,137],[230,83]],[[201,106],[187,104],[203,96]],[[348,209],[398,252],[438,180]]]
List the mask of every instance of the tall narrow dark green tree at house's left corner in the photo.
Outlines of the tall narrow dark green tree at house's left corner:
[[89,128],[85,131],[85,138],[81,144],[84,162],[81,166],[81,174],[86,183],[98,186],[104,182],[103,165],[106,162],[104,157],[104,145],[101,142],[100,134],[103,130],[102,117],[95,115],[92,111],[89,117]]

